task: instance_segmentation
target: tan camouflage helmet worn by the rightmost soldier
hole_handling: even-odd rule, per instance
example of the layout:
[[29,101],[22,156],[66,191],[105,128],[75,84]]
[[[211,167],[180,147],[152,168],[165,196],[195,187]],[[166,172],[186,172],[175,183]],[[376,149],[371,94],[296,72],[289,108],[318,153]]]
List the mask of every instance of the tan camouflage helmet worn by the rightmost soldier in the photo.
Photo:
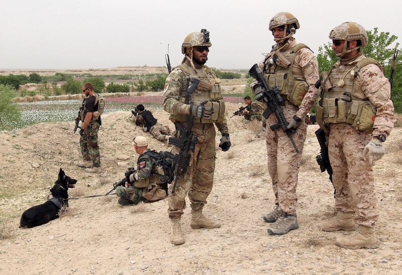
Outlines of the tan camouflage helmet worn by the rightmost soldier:
[[341,25],[335,27],[331,30],[329,38],[331,40],[346,40],[346,41],[353,41],[359,40],[360,45],[353,49],[346,49],[348,43],[344,43],[343,51],[341,53],[337,53],[336,55],[342,57],[345,53],[354,51],[359,49],[360,47],[364,47],[367,45],[367,32],[363,28],[363,26],[355,23],[355,22],[345,22]]

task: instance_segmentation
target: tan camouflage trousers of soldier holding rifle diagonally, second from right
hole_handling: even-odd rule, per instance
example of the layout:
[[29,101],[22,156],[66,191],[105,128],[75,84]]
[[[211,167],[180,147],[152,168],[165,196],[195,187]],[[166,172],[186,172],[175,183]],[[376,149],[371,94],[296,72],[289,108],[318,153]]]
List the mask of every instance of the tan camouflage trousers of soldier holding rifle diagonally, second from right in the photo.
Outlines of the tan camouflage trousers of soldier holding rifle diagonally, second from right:
[[[290,121],[297,112],[297,107],[286,105],[282,107],[287,121]],[[276,124],[274,114],[266,120],[268,126]],[[304,120],[292,134],[294,143],[300,153],[296,153],[289,137],[281,129],[266,130],[266,147],[268,171],[272,180],[272,189],[275,194],[275,204],[286,213],[295,213],[297,206],[297,177],[302,158],[303,147],[307,135],[307,125]]]

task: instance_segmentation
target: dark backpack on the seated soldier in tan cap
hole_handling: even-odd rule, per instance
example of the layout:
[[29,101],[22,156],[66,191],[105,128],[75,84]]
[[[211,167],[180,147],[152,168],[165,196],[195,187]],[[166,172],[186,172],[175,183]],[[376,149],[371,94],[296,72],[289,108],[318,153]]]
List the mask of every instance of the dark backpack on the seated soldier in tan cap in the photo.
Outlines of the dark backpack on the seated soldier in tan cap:
[[155,150],[145,152],[144,154],[156,160],[155,172],[160,175],[161,182],[170,184],[174,179],[174,155],[169,151],[157,152]]

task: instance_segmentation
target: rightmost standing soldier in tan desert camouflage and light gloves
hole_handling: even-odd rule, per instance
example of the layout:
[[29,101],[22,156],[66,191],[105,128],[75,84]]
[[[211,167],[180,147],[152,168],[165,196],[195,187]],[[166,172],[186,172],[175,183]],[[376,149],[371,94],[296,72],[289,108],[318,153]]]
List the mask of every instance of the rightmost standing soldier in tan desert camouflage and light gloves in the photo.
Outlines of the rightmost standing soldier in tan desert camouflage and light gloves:
[[383,67],[360,49],[367,44],[361,25],[343,23],[330,32],[329,38],[340,60],[323,73],[317,122],[329,135],[337,216],[323,221],[320,227],[323,231],[357,229],[336,239],[341,247],[376,248],[378,211],[372,166],[384,155],[382,143],[395,122],[390,84]]

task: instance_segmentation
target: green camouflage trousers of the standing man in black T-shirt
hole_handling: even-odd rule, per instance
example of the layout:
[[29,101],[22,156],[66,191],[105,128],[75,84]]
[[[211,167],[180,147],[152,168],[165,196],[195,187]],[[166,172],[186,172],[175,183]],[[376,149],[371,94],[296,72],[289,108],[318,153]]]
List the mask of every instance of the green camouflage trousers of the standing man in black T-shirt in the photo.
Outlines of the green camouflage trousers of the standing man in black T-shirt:
[[97,131],[99,123],[91,121],[86,127],[83,135],[79,138],[79,147],[81,148],[82,158],[85,161],[92,160],[94,167],[100,166],[99,146],[97,145]]

